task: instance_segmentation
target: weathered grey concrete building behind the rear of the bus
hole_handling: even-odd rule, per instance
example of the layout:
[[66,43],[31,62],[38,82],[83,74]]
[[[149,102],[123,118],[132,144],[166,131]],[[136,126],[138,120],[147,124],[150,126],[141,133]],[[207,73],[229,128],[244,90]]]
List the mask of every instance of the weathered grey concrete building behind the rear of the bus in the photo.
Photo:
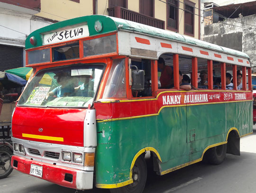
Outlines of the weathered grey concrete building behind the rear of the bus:
[[203,6],[201,39],[247,53],[256,72],[256,1]]

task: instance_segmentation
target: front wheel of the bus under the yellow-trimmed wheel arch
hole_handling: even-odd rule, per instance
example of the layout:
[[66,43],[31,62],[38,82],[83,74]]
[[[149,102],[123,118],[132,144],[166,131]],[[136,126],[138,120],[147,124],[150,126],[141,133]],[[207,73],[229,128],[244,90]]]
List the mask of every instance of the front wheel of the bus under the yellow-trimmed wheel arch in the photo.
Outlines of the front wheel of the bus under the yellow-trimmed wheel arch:
[[110,193],[142,193],[146,185],[146,161],[143,156],[139,156],[132,168],[133,183],[110,189]]

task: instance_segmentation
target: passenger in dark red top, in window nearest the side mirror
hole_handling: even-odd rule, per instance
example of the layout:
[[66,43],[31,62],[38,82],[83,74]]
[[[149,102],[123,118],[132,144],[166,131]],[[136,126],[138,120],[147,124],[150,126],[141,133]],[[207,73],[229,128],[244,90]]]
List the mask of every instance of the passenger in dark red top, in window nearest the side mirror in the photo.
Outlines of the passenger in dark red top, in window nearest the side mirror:
[[173,67],[166,66],[165,60],[159,58],[157,61],[157,67],[161,70],[160,83],[161,89],[170,88],[174,84],[174,70]]

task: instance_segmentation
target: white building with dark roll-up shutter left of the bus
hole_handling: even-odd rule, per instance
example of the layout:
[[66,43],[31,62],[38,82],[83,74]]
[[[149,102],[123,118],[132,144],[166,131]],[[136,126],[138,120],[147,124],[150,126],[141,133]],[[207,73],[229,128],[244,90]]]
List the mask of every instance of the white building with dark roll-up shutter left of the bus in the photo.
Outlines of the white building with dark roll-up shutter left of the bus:
[[35,16],[40,4],[40,0],[0,0],[0,71],[24,67],[27,35],[55,22]]

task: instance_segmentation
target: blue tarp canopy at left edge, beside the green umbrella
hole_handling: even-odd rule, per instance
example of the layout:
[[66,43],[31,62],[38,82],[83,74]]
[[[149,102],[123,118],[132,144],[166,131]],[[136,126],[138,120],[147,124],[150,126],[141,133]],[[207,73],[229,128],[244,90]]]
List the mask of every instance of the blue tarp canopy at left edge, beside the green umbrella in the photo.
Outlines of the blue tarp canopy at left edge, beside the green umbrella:
[[25,86],[27,81],[23,78],[7,73],[7,72],[0,72],[0,83],[4,87],[17,87],[18,85]]

